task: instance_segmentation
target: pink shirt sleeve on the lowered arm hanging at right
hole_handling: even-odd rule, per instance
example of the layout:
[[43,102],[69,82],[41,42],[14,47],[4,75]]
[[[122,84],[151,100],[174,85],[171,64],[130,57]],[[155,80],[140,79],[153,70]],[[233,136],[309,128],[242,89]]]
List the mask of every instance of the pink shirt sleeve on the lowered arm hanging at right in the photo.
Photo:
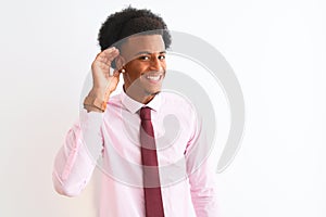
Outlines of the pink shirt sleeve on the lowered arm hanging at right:
[[197,217],[218,217],[216,174],[200,122],[195,122],[192,138],[185,152],[190,193]]

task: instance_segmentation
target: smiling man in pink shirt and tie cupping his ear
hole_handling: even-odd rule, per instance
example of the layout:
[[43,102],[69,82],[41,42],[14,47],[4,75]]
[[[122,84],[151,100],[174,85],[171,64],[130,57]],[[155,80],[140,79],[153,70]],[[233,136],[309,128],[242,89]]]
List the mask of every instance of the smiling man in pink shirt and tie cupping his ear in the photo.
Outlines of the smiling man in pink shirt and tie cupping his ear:
[[[196,111],[179,95],[161,92],[171,44],[163,20],[127,8],[103,23],[99,43],[85,112],[54,162],[55,190],[78,195],[100,158],[106,175],[101,217],[217,216]],[[124,91],[111,97],[121,74]]]

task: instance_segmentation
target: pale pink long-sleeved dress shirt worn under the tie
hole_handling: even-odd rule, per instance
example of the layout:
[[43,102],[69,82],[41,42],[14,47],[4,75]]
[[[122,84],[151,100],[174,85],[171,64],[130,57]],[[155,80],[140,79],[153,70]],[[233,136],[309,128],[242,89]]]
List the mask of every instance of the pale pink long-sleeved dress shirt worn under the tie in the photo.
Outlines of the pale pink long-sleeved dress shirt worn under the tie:
[[[97,216],[145,217],[138,114],[142,106],[122,92],[110,98],[104,113],[82,111],[55,157],[55,190],[78,195],[99,166],[105,176]],[[196,110],[171,92],[159,93],[147,106],[152,108],[165,216],[218,217],[216,175],[209,166],[210,150]]]

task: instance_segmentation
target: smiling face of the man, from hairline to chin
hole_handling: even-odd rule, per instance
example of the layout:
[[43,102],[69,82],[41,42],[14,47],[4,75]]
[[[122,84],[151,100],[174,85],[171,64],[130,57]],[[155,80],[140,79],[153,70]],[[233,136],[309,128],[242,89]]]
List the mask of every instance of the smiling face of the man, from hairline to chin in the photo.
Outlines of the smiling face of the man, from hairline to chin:
[[121,47],[124,88],[131,97],[154,95],[165,76],[165,47],[161,35],[131,36]]

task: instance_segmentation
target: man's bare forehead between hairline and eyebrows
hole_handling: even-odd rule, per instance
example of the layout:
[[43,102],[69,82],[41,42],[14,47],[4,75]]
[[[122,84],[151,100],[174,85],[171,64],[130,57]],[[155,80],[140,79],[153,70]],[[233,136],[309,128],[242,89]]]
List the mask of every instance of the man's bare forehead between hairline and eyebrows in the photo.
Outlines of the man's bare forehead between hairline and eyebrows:
[[121,47],[125,58],[131,58],[139,52],[159,53],[165,50],[161,35],[130,36]]

